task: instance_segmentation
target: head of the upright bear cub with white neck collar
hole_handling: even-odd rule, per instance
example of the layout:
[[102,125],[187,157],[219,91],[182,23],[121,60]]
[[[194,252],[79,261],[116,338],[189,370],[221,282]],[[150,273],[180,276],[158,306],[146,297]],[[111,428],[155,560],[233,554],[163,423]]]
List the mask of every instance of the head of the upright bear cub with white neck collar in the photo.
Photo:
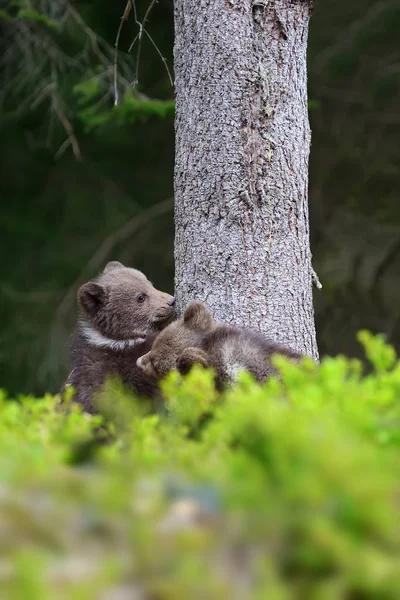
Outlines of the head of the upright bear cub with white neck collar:
[[79,288],[78,305],[87,324],[121,341],[161,330],[175,315],[172,296],[156,290],[140,271],[117,261]]

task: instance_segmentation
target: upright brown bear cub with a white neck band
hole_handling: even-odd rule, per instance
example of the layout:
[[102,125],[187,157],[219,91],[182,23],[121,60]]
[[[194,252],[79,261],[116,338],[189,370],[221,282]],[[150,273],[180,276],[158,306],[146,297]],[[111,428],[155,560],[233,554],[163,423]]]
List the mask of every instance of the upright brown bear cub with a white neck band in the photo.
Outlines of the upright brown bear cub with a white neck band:
[[139,396],[154,398],[158,386],[136,366],[175,315],[175,299],[156,290],[135,269],[113,261],[78,290],[79,319],[71,345],[66,386],[74,400],[96,412],[93,395],[107,376],[117,376]]

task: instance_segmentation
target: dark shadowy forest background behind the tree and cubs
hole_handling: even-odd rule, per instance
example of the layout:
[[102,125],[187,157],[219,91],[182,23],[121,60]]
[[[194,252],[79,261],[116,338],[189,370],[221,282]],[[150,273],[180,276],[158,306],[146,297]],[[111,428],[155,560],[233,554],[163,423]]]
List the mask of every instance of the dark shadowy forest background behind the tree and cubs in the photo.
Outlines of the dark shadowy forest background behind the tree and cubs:
[[[58,390],[76,289],[106,261],[173,289],[172,0],[125,13],[115,85],[125,4],[0,0],[0,387],[12,393]],[[399,31],[396,0],[319,0],[311,20],[322,355],[359,355],[361,328],[400,348]]]

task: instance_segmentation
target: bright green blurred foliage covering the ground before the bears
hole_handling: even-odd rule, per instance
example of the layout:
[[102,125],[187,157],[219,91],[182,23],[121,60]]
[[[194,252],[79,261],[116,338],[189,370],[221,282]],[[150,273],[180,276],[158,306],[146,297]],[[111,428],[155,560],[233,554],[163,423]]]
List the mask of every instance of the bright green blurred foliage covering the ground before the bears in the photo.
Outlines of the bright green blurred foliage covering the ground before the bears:
[[171,373],[160,415],[3,394],[1,598],[399,598],[400,363],[360,339],[368,374]]

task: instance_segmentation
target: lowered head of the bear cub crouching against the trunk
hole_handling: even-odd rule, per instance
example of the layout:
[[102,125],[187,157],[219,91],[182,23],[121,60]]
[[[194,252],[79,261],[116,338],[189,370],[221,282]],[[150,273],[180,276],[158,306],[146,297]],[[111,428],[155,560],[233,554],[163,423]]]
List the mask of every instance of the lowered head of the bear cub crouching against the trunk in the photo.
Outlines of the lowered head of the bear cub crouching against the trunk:
[[173,369],[186,373],[194,363],[208,367],[207,354],[198,346],[214,327],[208,309],[200,302],[191,302],[183,317],[168,325],[154,340],[150,352],[136,364],[145,375],[157,380]]

